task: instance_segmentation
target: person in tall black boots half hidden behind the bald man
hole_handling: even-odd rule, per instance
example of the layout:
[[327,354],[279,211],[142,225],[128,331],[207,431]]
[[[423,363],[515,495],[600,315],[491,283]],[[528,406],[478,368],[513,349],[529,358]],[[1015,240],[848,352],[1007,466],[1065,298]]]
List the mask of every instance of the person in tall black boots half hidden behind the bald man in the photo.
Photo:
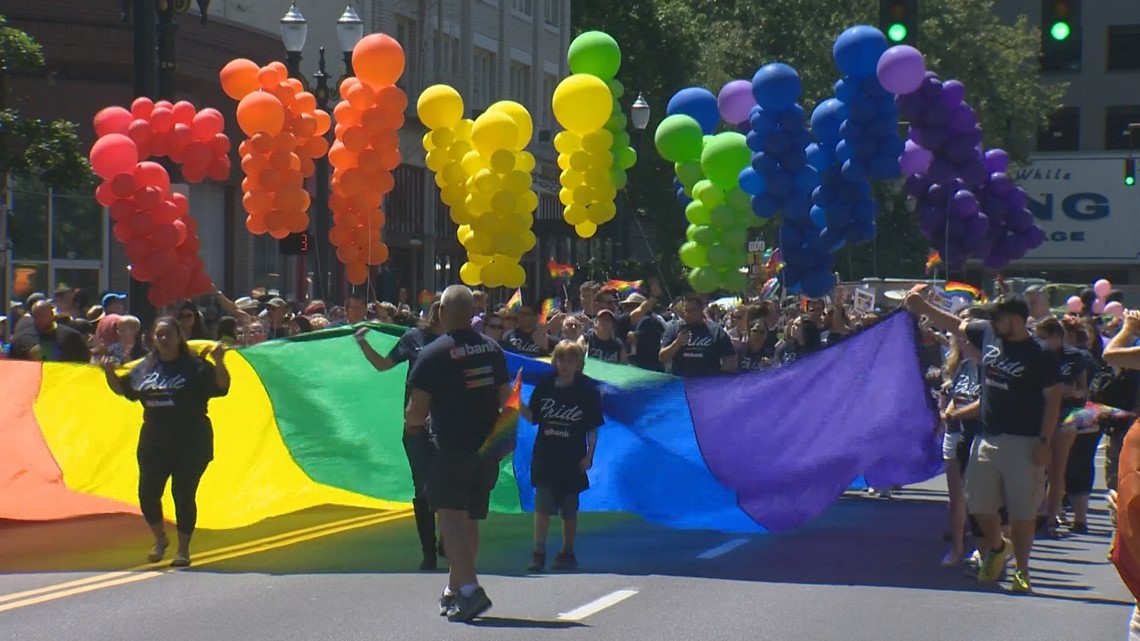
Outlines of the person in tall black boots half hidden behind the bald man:
[[[439,336],[439,302],[431,303],[427,308],[427,318],[423,325],[406,332],[396,342],[392,351],[388,356],[381,356],[370,344],[368,344],[367,326],[360,327],[356,332],[357,344],[364,352],[368,363],[377,372],[386,372],[394,368],[400,363],[408,364],[408,379],[412,378],[412,368],[415,367],[420,352],[431,344]],[[412,386],[405,384],[404,403],[407,405],[412,393]],[[416,514],[416,532],[420,534],[420,544],[423,549],[423,561],[420,563],[421,570],[434,570],[437,557],[435,543],[435,513],[431,510],[427,501],[427,478],[431,472],[431,462],[435,449],[431,445],[427,430],[409,431],[404,430],[404,453],[408,457],[408,466],[412,468],[412,484],[415,487],[415,497],[412,500],[412,508]],[[442,551],[442,542],[438,549]]]

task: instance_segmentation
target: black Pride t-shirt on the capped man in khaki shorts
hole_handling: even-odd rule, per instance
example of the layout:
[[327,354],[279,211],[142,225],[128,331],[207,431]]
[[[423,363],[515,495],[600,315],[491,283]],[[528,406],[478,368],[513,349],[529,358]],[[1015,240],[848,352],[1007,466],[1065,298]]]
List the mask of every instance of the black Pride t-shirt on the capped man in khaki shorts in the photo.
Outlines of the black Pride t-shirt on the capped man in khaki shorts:
[[988,320],[975,320],[966,335],[982,351],[982,433],[1039,436],[1044,391],[1060,382],[1060,365],[1035,339],[1003,341]]

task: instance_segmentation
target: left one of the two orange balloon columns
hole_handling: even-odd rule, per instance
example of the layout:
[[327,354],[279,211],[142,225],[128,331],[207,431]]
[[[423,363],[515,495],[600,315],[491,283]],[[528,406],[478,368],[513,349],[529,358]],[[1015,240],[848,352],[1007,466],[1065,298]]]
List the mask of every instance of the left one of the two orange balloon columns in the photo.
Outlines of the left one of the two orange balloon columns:
[[238,100],[237,124],[249,137],[238,145],[245,228],[275,238],[303,232],[310,204],[304,179],[316,170],[314,160],[328,152],[328,114],[282,63],[259,67],[236,58],[218,76]]

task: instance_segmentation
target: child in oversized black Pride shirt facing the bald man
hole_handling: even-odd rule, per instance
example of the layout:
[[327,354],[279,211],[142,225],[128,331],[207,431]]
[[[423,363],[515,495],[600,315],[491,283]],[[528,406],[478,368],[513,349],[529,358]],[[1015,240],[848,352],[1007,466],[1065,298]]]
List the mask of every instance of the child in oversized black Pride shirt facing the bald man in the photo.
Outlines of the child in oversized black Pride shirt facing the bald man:
[[578,534],[578,495],[589,488],[586,470],[594,465],[597,428],[602,425],[602,396],[585,376],[585,349],[562,341],[554,348],[556,374],[535,387],[524,419],[538,424],[531,456],[530,480],[535,486],[535,553],[530,571],[546,566],[546,533],[551,514],[562,516],[562,551],[551,566],[555,570],[578,567],[573,553]]

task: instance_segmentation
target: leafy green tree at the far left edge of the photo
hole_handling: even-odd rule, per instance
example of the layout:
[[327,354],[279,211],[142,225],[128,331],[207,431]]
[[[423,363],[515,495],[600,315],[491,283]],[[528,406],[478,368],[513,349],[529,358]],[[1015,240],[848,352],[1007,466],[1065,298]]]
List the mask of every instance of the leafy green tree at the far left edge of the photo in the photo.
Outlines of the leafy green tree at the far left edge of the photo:
[[[0,255],[6,255],[9,244],[7,176],[34,178],[58,188],[79,187],[91,180],[75,123],[25,117],[7,106],[9,74],[34,73],[42,67],[40,44],[27,33],[8,26],[0,15]],[[8,300],[10,281],[6,267],[7,261],[0,259],[2,301]]]

